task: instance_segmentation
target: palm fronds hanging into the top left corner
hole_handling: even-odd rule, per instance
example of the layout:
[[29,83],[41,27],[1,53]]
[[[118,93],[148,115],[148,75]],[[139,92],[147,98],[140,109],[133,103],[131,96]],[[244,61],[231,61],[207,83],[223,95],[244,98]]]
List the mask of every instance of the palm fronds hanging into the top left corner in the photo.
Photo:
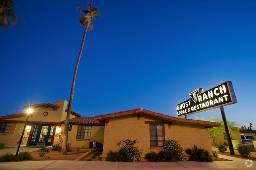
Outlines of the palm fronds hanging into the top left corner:
[[17,14],[12,10],[15,8],[13,0],[0,0],[0,26],[10,28],[10,25],[15,25]]

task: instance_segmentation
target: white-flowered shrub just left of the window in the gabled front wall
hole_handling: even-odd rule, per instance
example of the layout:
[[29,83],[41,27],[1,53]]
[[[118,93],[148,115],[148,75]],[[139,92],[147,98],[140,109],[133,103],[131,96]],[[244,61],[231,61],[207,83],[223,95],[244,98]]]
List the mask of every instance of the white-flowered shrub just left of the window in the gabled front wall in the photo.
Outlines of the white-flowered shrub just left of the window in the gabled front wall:
[[[117,146],[120,146],[122,143],[125,143],[126,145],[124,145],[124,149],[126,151],[128,151],[129,155],[132,157],[132,161],[134,162],[138,162],[141,161],[140,158],[140,154],[142,154],[143,149],[139,149],[138,146],[134,146],[136,143],[138,143],[138,141],[135,140],[130,140],[130,139],[126,139],[126,140],[121,140],[118,142]],[[130,157],[128,157],[130,158]],[[128,161],[126,161],[128,162]]]

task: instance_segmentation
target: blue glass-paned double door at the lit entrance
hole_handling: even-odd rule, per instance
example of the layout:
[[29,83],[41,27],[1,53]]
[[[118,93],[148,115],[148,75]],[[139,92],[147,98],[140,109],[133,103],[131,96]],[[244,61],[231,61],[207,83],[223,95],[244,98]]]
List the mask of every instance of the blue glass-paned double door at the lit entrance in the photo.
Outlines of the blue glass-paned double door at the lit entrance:
[[36,124],[34,126],[29,145],[32,146],[51,146],[55,125]]

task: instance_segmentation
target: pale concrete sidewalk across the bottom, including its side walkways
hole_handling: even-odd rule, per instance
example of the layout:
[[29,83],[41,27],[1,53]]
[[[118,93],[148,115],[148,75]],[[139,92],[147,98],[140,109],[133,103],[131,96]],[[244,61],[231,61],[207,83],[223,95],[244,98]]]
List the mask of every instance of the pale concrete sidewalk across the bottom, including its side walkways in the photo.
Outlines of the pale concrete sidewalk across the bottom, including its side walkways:
[[[20,151],[33,152],[39,148],[21,146]],[[17,146],[0,150],[0,155],[17,151]],[[256,170],[256,162],[220,155],[231,161],[214,162],[104,162],[104,161],[73,161],[44,160],[23,162],[2,162],[0,170]]]

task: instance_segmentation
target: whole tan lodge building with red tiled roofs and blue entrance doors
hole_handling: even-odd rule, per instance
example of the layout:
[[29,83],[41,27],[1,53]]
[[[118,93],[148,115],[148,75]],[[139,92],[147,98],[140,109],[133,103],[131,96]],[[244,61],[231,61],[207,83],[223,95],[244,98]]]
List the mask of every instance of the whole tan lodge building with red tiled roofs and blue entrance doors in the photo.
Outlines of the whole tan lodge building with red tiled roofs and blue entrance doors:
[[[42,103],[24,106],[34,112],[28,118],[23,145],[53,146],[63,142],[67,101],[56,100],[56,105]],[[27,114],[19,113],[0,117],[0,142],[17,145],[24,128]],[[220,123],[199,121],[163,115],[138,108],[95,117],[82,117],[72,111],[68,143],[71,147],[101,148],[102,160],[109,150],[119,150],[120,140],[137,140],[143,149],[142,160],[150,151],[163,150],[165,139],[174,139],[184,148],[196,144],[212,153],[208,128],[219,127]]]

